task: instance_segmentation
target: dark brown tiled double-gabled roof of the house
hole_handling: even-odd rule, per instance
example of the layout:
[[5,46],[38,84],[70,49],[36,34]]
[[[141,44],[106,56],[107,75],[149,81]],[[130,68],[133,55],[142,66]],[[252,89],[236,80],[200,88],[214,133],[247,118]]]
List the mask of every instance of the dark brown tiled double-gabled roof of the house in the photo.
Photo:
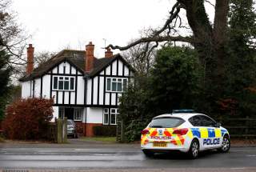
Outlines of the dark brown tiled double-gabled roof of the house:
[[19,81],[26,82],[34,78],[40,78],[62,62],[69,62],[72,66],[76,67],[79,72],[86,74],[89,77],[94,77],[95,75],[99,74],[106,68],[106,66],[109,66],[111,62],[114,62],[115,59],[120,59],[126,64],[126,66],[130,68],[130,70],[133,70],[130,64],[127,63],[120,54],[115,54],[112,58],[94,58],[93,70],[91,70],[90,73],[86,73],[84,70],[84,55],[85,51],[83,50],[62,50],[54,57],[50,58],[50,60],[35,68],[31,74],[26,74],[24,77],[20,78]]

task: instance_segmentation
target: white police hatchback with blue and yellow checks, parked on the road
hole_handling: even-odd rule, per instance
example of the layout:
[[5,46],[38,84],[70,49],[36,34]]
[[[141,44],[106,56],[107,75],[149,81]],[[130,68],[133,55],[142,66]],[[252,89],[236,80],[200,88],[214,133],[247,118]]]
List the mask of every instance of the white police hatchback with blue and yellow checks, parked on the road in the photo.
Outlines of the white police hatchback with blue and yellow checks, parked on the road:
[[180,150],[197,158],[202,150],[230,150],[229,132],[206,114],[193,110],[174,110],[154,117],[141,133],[141,148],[146,156]]

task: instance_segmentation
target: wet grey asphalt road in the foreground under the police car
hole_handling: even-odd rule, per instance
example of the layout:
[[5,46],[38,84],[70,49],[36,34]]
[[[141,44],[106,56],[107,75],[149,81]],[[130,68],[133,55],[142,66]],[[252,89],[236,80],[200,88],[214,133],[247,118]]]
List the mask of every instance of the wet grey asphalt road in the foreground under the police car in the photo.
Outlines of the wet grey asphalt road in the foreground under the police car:
[[146,158],[139,145],[135,144],[0,144],[2,170],[157,171],[181,168],[256,171],[256,147],[231,147],[228,154],[212,150],[200,154],[196,160],[190,160],[185,154],[157,154],[154,158]]

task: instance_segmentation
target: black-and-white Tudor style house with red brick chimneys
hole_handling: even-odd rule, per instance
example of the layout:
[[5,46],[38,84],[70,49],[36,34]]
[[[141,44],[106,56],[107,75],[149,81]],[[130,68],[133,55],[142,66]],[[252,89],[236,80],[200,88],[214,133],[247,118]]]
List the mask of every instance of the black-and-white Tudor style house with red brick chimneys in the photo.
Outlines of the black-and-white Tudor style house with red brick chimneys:
[[54,118],[74,120],[85,136],[93,126],[116,125],[118,100],[134,70],[120,54],[108,49],[94,57],[92,42],[86,50],[62,50],[34,69],[34,47],[27,48],[22,98],[54,98]]

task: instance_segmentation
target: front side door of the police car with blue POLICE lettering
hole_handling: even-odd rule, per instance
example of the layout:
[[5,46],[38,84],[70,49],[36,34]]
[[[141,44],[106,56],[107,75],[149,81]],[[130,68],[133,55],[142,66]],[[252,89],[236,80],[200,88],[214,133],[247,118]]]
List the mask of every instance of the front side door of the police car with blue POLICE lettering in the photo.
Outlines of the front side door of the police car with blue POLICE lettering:
[[206,115],[200,115],[200,119],[201,126],[199,130],[203,148],[211,149],[220,146],[221,140],[216,132],[216,130],[218,130],[216,127],[216,122]]

